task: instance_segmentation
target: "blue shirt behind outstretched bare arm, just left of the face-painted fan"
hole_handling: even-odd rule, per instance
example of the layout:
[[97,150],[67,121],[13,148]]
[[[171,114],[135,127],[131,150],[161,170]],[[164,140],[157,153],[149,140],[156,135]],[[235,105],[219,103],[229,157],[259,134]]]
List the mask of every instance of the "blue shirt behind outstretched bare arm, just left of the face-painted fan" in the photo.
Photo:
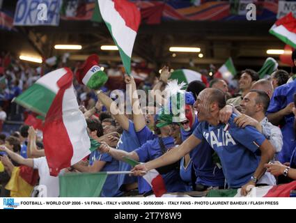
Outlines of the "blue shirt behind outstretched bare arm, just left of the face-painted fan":
[[[173,142],[173,137],[162,138],[166,151],[169,148],[175,146]],[[160,148],[158,138],[153,140],[148,140],[146,144],[143,144],[140,148],[135,150],[139,156],[140,162],[148,162],[150,160],[155,160],[156,158],[163,155],[162,149]],[[180,173],[177,169],[169,171],[167,174],[162,174],[162,178],[166,184],[166,190],[168,192],[185,192],[187,191],[187,185],[180,178]],[[146,191],[148,192],[148,191]]]

